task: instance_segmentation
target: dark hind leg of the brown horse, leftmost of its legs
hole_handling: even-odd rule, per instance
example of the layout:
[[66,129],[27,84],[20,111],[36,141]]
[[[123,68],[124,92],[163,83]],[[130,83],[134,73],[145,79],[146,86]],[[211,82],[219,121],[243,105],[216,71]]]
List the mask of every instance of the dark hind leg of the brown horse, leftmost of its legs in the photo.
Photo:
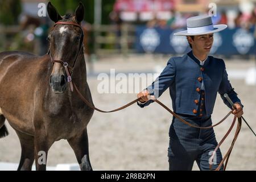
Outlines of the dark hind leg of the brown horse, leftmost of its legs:
[[34,162],[34,137],[21,133],[18,130],[15,131],[19,137],[22,149],[18,171],[31,171]]

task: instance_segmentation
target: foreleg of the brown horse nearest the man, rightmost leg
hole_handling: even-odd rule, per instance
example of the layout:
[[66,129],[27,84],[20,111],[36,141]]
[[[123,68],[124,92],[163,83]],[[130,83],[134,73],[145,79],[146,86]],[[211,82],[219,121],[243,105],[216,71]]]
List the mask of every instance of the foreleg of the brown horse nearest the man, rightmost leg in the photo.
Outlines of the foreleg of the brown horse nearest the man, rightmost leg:
[[82,171],[92,171],[92,166],[89,159],[89,144],[87,130],[85,129],[81,134],[68,139],[68,143],[75,152],[77,162]]

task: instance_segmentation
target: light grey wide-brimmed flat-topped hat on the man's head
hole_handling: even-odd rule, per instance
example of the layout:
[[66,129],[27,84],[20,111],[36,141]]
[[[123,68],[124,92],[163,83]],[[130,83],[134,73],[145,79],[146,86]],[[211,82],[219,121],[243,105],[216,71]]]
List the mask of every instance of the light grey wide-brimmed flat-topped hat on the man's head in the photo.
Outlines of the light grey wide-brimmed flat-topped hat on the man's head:
[[199,15],[188,18],[187,30],[177,32],[174,35],[192,36],[212,34],[214,32],[222,31],[226,27],[228,27],[226,24],[213,25],[212,18],[209,15]]

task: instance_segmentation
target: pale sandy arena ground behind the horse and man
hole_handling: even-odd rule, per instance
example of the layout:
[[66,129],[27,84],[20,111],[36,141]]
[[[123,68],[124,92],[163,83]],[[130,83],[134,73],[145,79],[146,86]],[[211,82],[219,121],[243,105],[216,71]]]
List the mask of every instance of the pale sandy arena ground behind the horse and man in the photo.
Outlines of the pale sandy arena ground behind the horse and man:
[[[127,58],[105,57],[94,63],[96,73],[116,72],[153,72],[155,68],[166,65],[168,57],[151,55],[133,55]],[[255,65],[254,61],[227,60],[227,69],[247,71]],[[88,65],[88,69],[92,69]],[[244,79],[230,79],[232,86],[242,100],[244,117],[256,131],[256,86],[248,86]],[[125,105],[136,98],[137,94],[99,94],[97,77],[88,77],[94,105],[103,110],[112,110]],[[171,107],[171,98],[168,90],[159,98]],[[213,122],[220,121],[229,108],[224,105],[220,96],[217,96]],[[225,135],[231,122],[230,116],[214,131],[217,140]],[[104,114],[94,112],[88,125],[90,162],[97,170],[168,170],[168,130],[171,124],[171,115],[158,104],[151,104],[143,109],[136,104],[117,113]],[[245,123],[242,123],[241,133],[233,148],[227,170],[256,170],[256,137]],[[0,140],[0,162],[18,163],[20,145],[14,130],[7,125],[10,135]],[[234,127],[233,131],[236,129]],[[221,146],[225,154],[233,134]],[[59,163],[76,163],[75,154],[67,141],[60,140],[53,144],[48,153],[48,166]],[[193,170],[199,170],[194,164]]]

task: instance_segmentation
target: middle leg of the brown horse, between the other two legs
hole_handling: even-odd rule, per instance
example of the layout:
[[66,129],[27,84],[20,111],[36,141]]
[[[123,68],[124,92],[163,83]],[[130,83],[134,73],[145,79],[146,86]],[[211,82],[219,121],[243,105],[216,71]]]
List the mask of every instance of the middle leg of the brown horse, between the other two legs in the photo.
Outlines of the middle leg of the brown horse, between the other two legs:
[[36,131],[34,142],[36,171],[46,171],[49,146],[47,144],[45,131]]

